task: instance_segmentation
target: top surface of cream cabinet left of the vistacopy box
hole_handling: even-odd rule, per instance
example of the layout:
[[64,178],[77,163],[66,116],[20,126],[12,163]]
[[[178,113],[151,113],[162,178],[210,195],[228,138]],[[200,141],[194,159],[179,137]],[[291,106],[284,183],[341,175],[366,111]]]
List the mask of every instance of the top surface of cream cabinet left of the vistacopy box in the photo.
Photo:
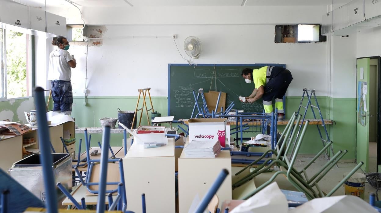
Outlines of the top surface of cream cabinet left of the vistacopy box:
[[174,156],[174,138],[168,138],[168,144],[162,147],[144,149],[144,145],[133,143],[127,152],[126,158],[135,157],[171,157]]

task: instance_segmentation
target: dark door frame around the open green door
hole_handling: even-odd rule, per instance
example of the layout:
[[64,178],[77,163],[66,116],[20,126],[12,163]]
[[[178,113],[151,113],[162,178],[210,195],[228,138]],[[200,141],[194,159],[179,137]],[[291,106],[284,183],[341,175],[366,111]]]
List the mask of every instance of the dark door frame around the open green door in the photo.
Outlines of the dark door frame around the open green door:
[[[357,59],[362,59],[362,58],[369,58],[371,59],[377,59],[378,60],[378,79],[377,79],[377,90],[378,90],[378,101],[377,101],[377,165],[376,165],[376,171],[378,172],[378,165],[381,165],[381,121],[380,121],[380,115],[381,115],[381,97],[379,96],[381,94],[381,57],[380,56],[370,56],[370,57],[360,57],[356,58],[356,69],[357,69]],[[357,78],[357,77],[356,77]],[[357,79],[356,79],[357,82]],[[357,98],[357,97],[356,97]],[[357,134],[357,132],[356,132]],[[356,146],[357,146],[357,141],[356,141]],[[369,158],[369,156],[368,156]],[[356,154],[356,159],[357,159],[357,154]]]

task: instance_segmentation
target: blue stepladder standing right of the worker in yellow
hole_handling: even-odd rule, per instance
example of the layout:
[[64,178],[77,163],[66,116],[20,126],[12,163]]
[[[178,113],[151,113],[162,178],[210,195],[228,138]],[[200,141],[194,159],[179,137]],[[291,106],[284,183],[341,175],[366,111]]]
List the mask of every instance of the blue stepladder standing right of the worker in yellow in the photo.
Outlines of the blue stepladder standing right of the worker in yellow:
[[[309,94],[308,92],[310,92],[311,94]],[[304,96],[307,96],[308,98],[308,101],[307,101],[307,105],[306,106],[303,106],[303,99],[304,99]],[[316,103],[316,106],[315,105],[312,105],[312,102],[311,102],[311,98],[312,96],[314,96],[314,99],[315,99],[315,103]],[[296,141],[298,140],[298,137],[299,137],[299,133],[302,129],[302,125],[304,120],[306,119],[306,114],[307,114],[307,111],[308,111],[308,108],[311,107],[311,111],[312,111],[312,115],[314,116],[314,119],[316,119],[316,115],[315,115],[315,112],[314,112],[314,108],[317,109],[319,111],[319,115],[320,115],[320,119],[322,120],[322,126],[324,128],[324,133],[325,133],[325,138],[323,138],[322,136],[322,131],[320,130],[319,128],[319,125],[317,124],[316,127],[317,127],[317,130],[319,131],[319,135],[320,135],[320,139],[322,140],[322,143],[323,143],[323,147],[326,146],[326,144],[330,143],[330,136],[328,135],[328,131],[327,131],[327,127],[325,127],[325,123],[324,123],[324,119],[323,119],[323,115],[322,115],[322,112],[320,111],[320,107],[319,107],[319,103],[317,102],[317,98],[316,98],[316,94],[315,94],[315,90],[312,90],[312,89],[307,89],[307,88],[303,88],[303,96],[302,96],[302,99],[300,101],[300,104],[299,104],[299,109],[298,109],[298,112],[296,113],[296,115],[299,115],[299,112],[300,112],[300,108],[303,107],[305,110],[304,110],[304,114],[303,114],[303,118],[301,120],[301,123],[299,124],[299,131],[298,131],[298,134],[296,135],[296,139],[295,141],[293,141],[293,144],[294,144],[294,147],[291,151],[291,156],[293,155],[294,151],[295,151],[295,143]],[[331,153],[335,153],[333,151],[333,147],[332,147],[332,144],[330,144],[330,151]],[[325,150],[325,157],[327,157],[327,160],[330,160],[330,153],[327,150]],[[339,168],[339,166],[337,165],[336,163],[336,167]]]

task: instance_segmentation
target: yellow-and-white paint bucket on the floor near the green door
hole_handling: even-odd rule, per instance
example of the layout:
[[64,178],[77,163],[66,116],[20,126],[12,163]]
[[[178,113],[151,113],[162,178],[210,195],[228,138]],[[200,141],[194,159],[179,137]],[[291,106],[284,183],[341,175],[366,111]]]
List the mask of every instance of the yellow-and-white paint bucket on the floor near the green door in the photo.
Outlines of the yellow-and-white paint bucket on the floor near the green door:
[[[344,173],[344,177],[347,176],[349,172]],[[355,195],[364,199],[365,195],[365,181],[366,176],[361,173],[354,173],[345,183],[344,183],[344,193],[345,195]]]

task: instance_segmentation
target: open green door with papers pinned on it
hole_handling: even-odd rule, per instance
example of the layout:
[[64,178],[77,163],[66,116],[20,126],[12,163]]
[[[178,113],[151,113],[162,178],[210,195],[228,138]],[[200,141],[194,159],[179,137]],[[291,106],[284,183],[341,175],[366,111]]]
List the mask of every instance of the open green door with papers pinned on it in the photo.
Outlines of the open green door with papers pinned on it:
[[356,161],[369,171],[369,58],[357,59]]

